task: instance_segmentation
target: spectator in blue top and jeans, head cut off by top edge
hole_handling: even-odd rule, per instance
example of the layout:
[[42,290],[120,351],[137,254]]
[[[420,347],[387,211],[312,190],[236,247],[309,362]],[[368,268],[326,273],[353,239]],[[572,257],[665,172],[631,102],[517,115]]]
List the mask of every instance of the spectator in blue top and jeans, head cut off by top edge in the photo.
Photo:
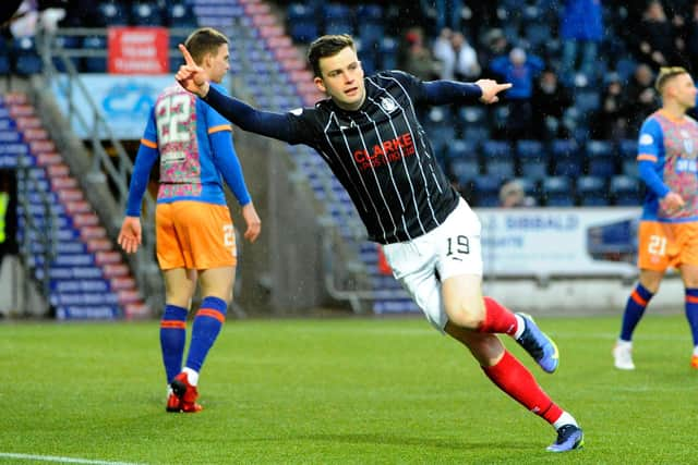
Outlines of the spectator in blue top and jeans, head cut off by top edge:
[[559,72],[565,83],[571,84],[577,72],[582,79],[594,77],[597,52],[603,39],[602,13],[601,0],[565,1],[559,25],[563,42]]

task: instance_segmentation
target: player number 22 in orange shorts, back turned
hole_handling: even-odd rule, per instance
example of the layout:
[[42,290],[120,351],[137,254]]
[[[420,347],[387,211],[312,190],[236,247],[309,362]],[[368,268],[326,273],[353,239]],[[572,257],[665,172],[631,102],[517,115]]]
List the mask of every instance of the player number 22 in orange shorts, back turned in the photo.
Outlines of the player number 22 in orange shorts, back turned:
[[[229,69],[228,40],[212,28],[195,30],[186,45],[210,79]],[[218,89],[222,91],[221,87]],[[254,242],[261,221],[236,156],[231,127],[220,114],[178,84],[157,98],[135,160],[127,217],[119,244],[134,253],[141,243],[141,203],[151,169],[160,158],[156,207],[157,258],[165,277],[166,307],[160,322],[163,362],[169,387],[167,412],[201,411],[198,372],[226,318],[236,277],[236,236],[221,175],[242,207]],[[186,315],[201,282],[185,367]]]

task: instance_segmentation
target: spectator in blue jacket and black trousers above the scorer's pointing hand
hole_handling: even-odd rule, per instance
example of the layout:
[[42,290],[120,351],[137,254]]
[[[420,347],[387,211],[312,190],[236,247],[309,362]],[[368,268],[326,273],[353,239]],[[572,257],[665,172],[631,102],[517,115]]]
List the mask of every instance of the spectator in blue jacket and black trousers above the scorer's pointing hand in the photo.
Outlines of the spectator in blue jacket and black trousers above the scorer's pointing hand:
[[535,79],[543,68],[543,60],[535,56],[528,56],[519,47],[514,47],[508,57],[500,57],[490,64],[492,72],[503,81],[512,83],[512,88],[506,93],[509,110],[505,127],[506,138],[531,138],[533,132],[531,97]]

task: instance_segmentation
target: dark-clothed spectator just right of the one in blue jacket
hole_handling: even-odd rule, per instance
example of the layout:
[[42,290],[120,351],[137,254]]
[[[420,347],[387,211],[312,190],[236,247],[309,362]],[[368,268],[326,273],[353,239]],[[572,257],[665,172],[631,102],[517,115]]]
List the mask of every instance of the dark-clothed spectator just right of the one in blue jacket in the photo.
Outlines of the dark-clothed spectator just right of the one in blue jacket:
[[568,137],[563,115],[571,103],[571,93],[552,69],[544,70],[533,88],[533,134],[538,139]]

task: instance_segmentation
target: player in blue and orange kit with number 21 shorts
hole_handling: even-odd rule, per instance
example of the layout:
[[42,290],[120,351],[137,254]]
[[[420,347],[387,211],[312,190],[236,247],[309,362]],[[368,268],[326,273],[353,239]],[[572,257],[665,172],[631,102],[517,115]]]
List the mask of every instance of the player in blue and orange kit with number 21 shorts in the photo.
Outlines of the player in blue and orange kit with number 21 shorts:
[[662,108],[640,129],[638,162],[647,197],[638,231],[639,283],[623,314],[613,348],[615,367],[635,369],[633,332],[659,291],[667,268],[681,271],[686,318],[694,340],[690,365],[698,368],[698,123],[686,115],[696,106],[696,86],[683,68],[657,76]]

